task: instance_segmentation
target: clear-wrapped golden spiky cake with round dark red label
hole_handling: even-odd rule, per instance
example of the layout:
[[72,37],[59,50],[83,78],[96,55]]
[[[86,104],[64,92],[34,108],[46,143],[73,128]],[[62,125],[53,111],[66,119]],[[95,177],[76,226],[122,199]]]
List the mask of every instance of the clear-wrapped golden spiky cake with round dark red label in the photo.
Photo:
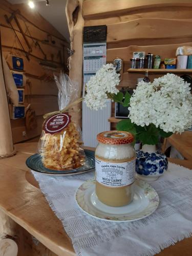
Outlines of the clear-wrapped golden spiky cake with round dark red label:
[[[58,87],[59,110],[68,108],[78,98],[78,83],[68,75],[54,75]],[[70,112],[49,116],[43,126],[38,144],[39,154],[45,167],[55,170],[75,169],[84,164],[80,127],[71,120]]]

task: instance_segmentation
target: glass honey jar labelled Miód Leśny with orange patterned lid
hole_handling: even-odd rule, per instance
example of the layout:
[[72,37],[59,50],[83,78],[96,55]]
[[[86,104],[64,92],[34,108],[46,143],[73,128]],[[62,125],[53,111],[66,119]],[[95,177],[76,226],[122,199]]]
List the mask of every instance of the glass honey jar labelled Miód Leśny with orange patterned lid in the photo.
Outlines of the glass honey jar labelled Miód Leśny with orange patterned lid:
[[106,205],[127,205],[134,196],[134,137],[127,132],[110,131],[98,134],[97,139],[96,195]]

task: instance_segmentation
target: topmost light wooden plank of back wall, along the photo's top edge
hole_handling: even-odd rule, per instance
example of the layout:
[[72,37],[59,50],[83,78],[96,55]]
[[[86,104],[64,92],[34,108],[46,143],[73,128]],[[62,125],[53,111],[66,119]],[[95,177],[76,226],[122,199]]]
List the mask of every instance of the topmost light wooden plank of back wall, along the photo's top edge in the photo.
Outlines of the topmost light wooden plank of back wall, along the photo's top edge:
[[153,7],[186,6],[191,7],[191,0],[84,0],[83,18],[99,19],[127,14],[133,10]]

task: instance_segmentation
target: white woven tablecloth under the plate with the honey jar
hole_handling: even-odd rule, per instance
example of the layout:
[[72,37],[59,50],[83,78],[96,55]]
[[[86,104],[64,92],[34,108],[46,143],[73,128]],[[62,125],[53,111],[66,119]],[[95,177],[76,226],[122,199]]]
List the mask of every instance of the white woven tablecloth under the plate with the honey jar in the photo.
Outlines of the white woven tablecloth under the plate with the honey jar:
[[79,256],[154,255],[191,236],[192,170],[169,163],[167,172],[151,183],[160,198],[158,209],[129,223],[98,220],[77,206],[76,190],[94,171],[66,177],[32,173]]

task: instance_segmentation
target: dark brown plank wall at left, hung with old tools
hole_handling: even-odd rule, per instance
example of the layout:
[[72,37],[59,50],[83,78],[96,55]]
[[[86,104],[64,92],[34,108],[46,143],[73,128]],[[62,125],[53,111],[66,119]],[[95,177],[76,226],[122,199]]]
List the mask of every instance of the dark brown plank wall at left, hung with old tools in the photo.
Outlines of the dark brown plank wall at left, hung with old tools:
[[[4,15],[10,17],[15,10],[20,11],[20,14],[16,14],[16,17],[32,47],[32,52],[29,55],[30,61],[26,58],[22,46],[20,46],[12,28],[4,17]],[[58,109],[57,87],[53,79],[53,72],[67,71],[69,42],[37,11],[28,8],[27,4],[11,5],[2,0],[0,24],[3,55],[10,69],[12,68],[12,55],[24,59],[24,70],[27,79],[25,105],[30,103],[31,108],[36,112],[37,128],[30,132],[26,131],[25,119],[11,120],[13,141],[17,143],[39,136],[43,121],[42,115]],[[14,19],[11,24],[25,51],[28,52],[29,48]],[[42,51],[47,55],[47,61],[54,64],[55,69],[39,65],[40,61],[45,60],[45,56],[38,45],[35,46],[35,42],[38,42]],[[25,131],[27,134],[23,136]]]

